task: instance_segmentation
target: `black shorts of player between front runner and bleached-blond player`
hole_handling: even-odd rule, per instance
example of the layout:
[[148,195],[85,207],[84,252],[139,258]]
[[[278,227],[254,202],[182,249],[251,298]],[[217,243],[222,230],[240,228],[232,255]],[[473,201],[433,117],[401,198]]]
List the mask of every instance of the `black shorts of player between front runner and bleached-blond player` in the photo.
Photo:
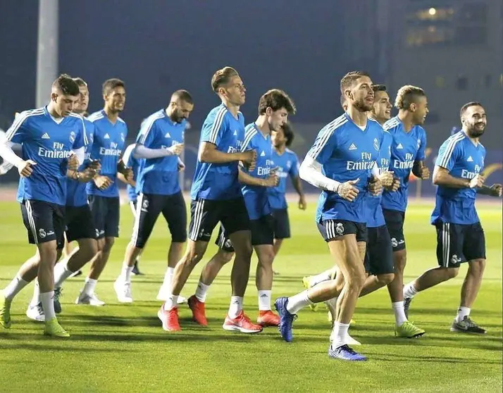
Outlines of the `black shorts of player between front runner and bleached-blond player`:
[[369,275],[395,273],[390,233],[386,225],[367,228],[367,250],[364,259]]

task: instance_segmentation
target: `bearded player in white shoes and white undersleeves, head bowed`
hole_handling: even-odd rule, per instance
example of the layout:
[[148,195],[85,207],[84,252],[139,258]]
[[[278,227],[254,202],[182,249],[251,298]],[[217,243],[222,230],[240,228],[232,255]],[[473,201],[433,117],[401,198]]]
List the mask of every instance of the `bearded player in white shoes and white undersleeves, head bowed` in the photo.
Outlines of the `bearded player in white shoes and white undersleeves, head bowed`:
[[171,278],[187,240],[187,212],[178,182],[179,155],[183,150],[187,118],[194,109],[186,90],[174,92],[167,108],[151,114],[142,123],[133,155],[143,158],[137,179],[139,191],[135,226],[125,251],[123,270],[114,283],[117,299],[131,303],[131,270],[142,253],[159,214],[163,214],[171,233],[168,268],[158,298],[170,294]]

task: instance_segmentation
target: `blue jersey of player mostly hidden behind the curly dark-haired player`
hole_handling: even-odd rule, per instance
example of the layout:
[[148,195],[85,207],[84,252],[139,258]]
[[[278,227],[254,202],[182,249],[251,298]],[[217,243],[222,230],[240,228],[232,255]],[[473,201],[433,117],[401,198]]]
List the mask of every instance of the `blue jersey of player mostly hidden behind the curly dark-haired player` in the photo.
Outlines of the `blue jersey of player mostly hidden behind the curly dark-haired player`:
[[292,180],[299,177],[299,158],[290,149],[285,149],[283,154],[278,154],[278,151],[273,148],[272,160],[274,168],[277,168],[277,175],[280,182],[276,187],[268,187],[267,194],[269,197],[269,204],[271,208],[283,209],[287,208],[287,199],[285,193],[287,189],[287,177],[290,176]]

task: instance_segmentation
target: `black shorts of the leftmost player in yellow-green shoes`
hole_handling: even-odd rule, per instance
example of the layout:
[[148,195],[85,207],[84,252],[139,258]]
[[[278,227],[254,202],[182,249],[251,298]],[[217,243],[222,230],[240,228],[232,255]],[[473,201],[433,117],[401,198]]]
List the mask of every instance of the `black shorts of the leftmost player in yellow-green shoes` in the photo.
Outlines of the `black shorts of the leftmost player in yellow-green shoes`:
[[23,216],[30,244],[56,240],[56,247],[63,249],[65,244],[65,206],[25,199],[21,204],[21,216]]

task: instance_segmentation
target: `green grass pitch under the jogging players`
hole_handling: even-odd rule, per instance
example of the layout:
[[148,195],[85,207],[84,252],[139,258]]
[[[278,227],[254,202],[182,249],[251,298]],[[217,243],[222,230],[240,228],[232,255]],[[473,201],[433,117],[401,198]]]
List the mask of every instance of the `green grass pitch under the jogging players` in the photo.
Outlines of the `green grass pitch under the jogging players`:
[[[290,208],[293,238],[275,261],[280,275],[273,299],[299,292],[304,275],[332,266],[313,223],[315,205],[311,201],[306,212]],[[436,266],[432,207],[411,204],[407,212],[406,282]],[[323,307],[299,313],[291,344],[282,342],[275,328],[253,336],[225,332],[221,325],[230,297],[230,266],[209,291],[209,327],[192,323],[189,308],[182,306],[182,332],[164,332],[155,300],[169,244],[163,220],[142,256],[147,275],[133,277],[135,303],[118,304],[112,285],[132,228],[131,212],[123,206],[121,237],[97,286],[106,306],[75,306],[83,278],[70,278],[60,321],[72,337],[49,339],[42,335],[42,325],[25,316],[32,285],[25,288],[13,303],[11,330],[0,330],[0,392],[502,392],[502,209],[479,204],[478,211],[488,264],[471,315],[488,335],[449,332],[464,266],[457,279],[414,300],[411,320],[426,330],[420,339],[394,337],[385,289],[360,299],[351,332],[369,360],[345,363],[327,356],[330,325]],[[27,244],[17,204],[0,203],[0,217],[0,287],[5,287],[34,249]],[[204,261],[215,250],[212,243]],[[251,318],[257,313],[255,266],[253,261],[245,297]],[[187,282],[182,292],[186,297],[194,292],[200,270],[198,266]]]

